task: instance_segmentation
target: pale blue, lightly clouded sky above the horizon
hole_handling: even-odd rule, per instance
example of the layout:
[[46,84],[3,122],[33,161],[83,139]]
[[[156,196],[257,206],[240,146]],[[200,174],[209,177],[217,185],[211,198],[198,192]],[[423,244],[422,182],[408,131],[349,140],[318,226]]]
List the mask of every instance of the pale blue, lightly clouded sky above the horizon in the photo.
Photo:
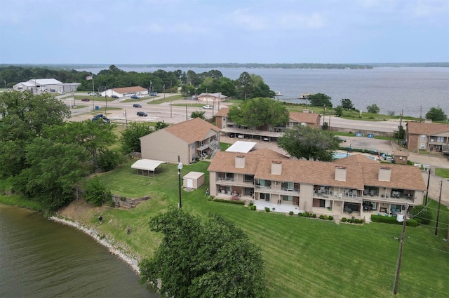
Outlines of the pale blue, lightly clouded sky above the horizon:
[[0,64],[449,62],[449,0],[0,0]]

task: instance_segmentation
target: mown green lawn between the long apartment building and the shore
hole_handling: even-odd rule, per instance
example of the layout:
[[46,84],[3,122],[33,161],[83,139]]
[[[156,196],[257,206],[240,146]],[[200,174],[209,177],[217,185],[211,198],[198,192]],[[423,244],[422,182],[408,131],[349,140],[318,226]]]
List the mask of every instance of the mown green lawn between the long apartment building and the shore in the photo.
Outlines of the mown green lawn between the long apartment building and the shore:
[[[149,231],[149,218],[177,205],[175,164],[161,165],[155,177],[133,175],[129,161],[100,175],[114,194],[132,198],[151,196],[132,210],[108,209],[100,229],[114,236],[136,255],[151,255],[161,235]],[[400,225],[335,224],[275,212],[254,212],[241,205],[207,201],[209,163],[185,165],[206,173],[206,184],[182,191],[182,208],[195,215],[217,212],[236,222],[262,250],[270,297],[394,297],[394,274],[401,236]],[[436,214],[437,202],[429,205]],[[438,237],[434,226],[407,227],[396,297],[445,297],[449,290],[448,209],[441,208]],[[436,216],[434,216],[434,219]],[[92,224],[96,217],[92,218]],[[132,233],[126,235],[130,224]],[[138,253],[137,253],[138,252]]]

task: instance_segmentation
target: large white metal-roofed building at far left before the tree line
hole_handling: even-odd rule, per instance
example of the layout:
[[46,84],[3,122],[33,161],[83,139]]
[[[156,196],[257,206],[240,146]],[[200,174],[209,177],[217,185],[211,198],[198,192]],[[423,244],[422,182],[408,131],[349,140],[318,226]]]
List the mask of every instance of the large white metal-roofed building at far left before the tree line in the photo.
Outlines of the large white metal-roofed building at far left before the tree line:
[[13,90],[17,91],[29,91],[32,93],[41,92],[57,92],[57,93],[69,93],[76,91],[76,88],[81,83],[62,83],[56,79],[31,79],[26,82],[20,82],[13,86]]

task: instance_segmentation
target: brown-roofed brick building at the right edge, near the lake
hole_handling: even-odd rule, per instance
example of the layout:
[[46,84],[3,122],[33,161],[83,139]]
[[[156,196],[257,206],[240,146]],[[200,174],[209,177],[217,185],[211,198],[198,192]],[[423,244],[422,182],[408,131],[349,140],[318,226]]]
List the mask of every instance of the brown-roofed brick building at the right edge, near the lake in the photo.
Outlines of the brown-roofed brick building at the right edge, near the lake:
[[449,154],[449,124],[407,122],[407,149]]

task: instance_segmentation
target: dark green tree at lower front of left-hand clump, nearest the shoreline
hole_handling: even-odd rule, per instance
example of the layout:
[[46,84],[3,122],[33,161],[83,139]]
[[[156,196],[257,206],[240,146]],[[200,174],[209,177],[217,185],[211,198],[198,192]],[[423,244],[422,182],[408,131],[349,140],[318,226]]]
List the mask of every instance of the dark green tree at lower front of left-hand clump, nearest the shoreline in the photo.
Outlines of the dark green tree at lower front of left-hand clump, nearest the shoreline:
[[86,175],[83,149],[36,137],[25,152],[27,168],[13,177],[14,188],[50,210],[72,201],[74,184]]

